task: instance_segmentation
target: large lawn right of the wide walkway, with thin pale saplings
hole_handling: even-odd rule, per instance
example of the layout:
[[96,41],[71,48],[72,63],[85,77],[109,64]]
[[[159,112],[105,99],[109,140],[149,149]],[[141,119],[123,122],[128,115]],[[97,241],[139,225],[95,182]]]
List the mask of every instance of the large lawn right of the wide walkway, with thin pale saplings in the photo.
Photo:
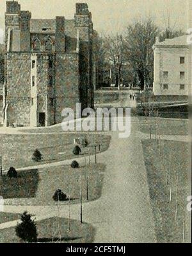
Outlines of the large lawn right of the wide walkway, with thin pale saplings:
[[182,243],[184,230],[186,242],[189,235],[186,218],[190,182],[188,143],[161,141],[159,146],[155,140],[143,140],[142,145],[157,242]]

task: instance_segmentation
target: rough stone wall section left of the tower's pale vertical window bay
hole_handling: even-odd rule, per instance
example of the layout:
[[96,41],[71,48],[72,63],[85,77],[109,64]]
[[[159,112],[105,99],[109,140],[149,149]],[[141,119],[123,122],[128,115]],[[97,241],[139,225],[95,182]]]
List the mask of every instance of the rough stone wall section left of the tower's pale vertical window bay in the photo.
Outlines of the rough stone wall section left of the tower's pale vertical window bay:
[[7,53],[8,125],[30,125],[31,104],[31,55],[30,53]]

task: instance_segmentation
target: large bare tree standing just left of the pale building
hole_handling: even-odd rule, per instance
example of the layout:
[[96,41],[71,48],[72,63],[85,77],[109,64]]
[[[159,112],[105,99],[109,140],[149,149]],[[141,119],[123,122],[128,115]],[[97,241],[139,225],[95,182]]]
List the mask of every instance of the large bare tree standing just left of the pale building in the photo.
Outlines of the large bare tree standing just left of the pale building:
[[152,46],[159,34],[154,21],[149,17],[130,24],[125,37],[126,57],[135,73],[138,74],[141,89],[152,84],[154,70],[154,53]]

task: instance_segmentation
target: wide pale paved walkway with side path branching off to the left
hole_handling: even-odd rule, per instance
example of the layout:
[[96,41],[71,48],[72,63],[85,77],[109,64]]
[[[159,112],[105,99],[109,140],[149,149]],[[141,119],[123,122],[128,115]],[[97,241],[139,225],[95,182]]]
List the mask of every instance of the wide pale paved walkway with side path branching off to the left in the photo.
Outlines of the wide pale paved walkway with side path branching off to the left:
[[[129,100],[122,103],[130,105]],[[111,132],[108,151],[98,155],[98,161],[106,163],[102,196],[83,205],[83,221],[96,228],[94,242],[156,242],[141,140],[136,136],[139,121],[132,121],[131,136],[120,139],[118,132]],[[63,165],[63,161],[56,164]],[[5,212],[24,210],[35,214],[37,221],[58,215],[56,206],[4,206]],[[60,216],[68,217],[67,205],[60,206]],[[79,205],[71,205],[70,216],[79,219]],[[15,224],[17,221],[3,223],[0,229]]]

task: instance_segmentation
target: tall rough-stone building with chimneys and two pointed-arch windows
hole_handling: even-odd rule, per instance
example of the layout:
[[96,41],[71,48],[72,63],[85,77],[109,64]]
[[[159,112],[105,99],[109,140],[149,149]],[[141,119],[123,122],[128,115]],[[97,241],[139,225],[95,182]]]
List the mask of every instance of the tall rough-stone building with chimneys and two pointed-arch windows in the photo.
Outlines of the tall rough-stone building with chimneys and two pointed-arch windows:
[[93,107],[93,23],[86,3],[74,19],[31,19],[6,2],[4,126],[47,126],[63,108]]

